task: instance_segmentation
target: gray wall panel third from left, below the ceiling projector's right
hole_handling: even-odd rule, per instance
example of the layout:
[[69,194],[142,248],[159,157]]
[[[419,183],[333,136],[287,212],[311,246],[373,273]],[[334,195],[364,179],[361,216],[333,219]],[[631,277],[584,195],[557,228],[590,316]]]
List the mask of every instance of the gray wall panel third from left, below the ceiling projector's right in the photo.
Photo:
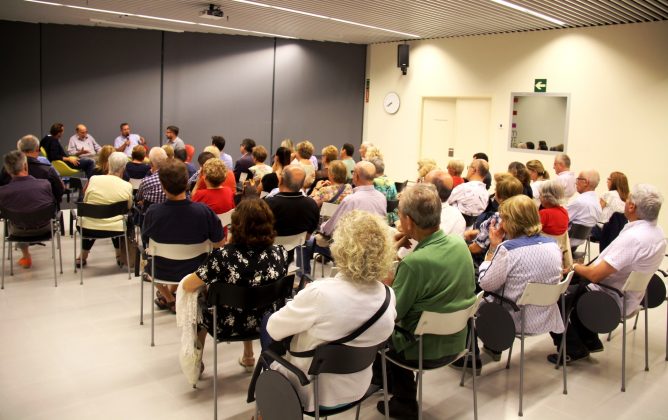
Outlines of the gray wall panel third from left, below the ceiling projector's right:
[[269,148],[274,40],[165,34],[164,118],[197,152],[222,135],[236,160],[241,140]]

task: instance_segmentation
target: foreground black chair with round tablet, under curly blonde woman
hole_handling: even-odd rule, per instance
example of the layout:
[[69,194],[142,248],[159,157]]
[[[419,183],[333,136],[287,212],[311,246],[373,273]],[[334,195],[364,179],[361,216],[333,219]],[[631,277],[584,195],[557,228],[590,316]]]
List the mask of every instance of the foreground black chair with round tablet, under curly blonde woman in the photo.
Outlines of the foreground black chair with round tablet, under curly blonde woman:
[[[305,411],[297,391],[292,383],[281,373],[274,370],[266,370],[257,377],[257,382],[251,384],[248,392],[248,402],[257,401],[256,412],[259,411],[263,420],[291,420],[301,419],[303,415],[314,417],[316,420],[321,416],[328,417],[342,413],[353,407],[357,408],[355,419],[359,418],[361,403],[380,390],[375,385],[369,385],[364,396],[357,401],[352,401],[335,408],[323,409],[320,407],[318,392],[319,376],[323,373],[345,375],[360,372],[371,366],[376,359],[380,346],[352,347],[344,344],[323,344],[315,348],[313,360],[309,366],[309,380],[304,372],[298,367],[278,355],[272,350],[266,350],[260,356],[256,367],[256,374],[263,367],[277,362],[292,372],[302,386],[313,383],[313,404],[315,411]],[[387,413],[387,412],[386,412]],[[386,418],[387,415],[385,416]],[[256,418],[257,414],[256,414]]]

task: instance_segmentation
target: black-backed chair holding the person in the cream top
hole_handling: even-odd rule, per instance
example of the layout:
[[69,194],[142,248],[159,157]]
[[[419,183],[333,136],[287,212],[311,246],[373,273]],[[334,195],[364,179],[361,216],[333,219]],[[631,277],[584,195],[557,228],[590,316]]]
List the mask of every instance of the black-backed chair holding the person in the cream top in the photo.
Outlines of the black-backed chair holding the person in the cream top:
[[[83,240],[84,239],[106,239],[106,238],[120,238],[123,237],[125,239],[125,258],[126,261],[130,261],[130,256],[128,254],[128,235],[127,235],[127,215],[129,211],[129,206],[127,201],[119,201],[116,203],[112,204],[89,204],[89,203],[77,203],[77,226],[80,227],[82,230],[81,232],[78,232],[78,229],[74,230],[74,272],[77,272],[77,263],[76,263],[76,258],[77,258],[77,233],[80,233],[80,244],[81,244],[81,249],[83,250]],[[123,221],[123,230],[120,232],[114,232],[114,231],[103,231],[103,230],[94,230],[95,232],[99,232],[98,236],[91,236],[91,237],[86,237],[83,234],[83,218],[91,218],[91,219],[108,219],[110,217],[116,217],[116,216],[122,216],[122,221]],[[83,284],[83,268],[84,264],[83,261],[81,261],[81,281],[79,284]],[[130,264],[127,264],[128,266],[128,280],[132,278],[132,275],[130,273]]]

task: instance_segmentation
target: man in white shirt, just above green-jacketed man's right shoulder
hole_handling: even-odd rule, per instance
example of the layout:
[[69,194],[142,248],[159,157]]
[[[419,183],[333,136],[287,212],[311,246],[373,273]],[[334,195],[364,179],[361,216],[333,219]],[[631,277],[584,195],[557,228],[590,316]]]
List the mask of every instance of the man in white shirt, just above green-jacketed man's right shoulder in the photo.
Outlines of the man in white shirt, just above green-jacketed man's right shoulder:
[[457,207],[465,219],[467,226],[472,225],[471,219],[477,217],[487,207],[489,194],[483,180],[487,176],[489,165],[482,159],[474,159],[469,165],[465,182],[456,186],[448,199],[448,204]]

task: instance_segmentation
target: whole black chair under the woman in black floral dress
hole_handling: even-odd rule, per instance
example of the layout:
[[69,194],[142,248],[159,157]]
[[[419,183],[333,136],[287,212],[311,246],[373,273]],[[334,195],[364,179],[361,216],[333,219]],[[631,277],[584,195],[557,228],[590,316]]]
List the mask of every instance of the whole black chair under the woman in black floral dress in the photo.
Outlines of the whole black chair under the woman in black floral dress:
[[[218,337],[218,306],[228,306],[242,310],[267,308],[279,301],[279,306],[285,305],[285,300],[292,296],[292,287],[295,275],[289,274],[282,279],[258,287],[239,287],[229,283],[213,283],[209,286],[207,306],[213,314],[213,417],[218,418],[218,342],[249,341],[260,338],[260,333],[236,335],[234,337]],[[267,418],[267,417],[265,417]]]

